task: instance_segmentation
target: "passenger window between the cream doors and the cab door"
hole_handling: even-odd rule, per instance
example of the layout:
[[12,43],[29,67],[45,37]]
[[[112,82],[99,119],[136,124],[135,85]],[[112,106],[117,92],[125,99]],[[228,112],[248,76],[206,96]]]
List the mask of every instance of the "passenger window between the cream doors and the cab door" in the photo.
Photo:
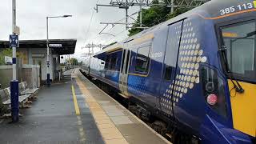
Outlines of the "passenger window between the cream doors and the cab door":
[[150,46],[138,48],[135,58],[135,71],[145,73],[149,71],[150,67]]

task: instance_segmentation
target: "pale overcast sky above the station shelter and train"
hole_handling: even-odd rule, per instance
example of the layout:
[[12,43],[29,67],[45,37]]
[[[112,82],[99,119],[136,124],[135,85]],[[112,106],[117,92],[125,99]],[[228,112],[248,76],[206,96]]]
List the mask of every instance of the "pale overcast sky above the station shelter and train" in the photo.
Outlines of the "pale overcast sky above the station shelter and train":
[[[125,10],[116,7],[99,7],[98,13],[94,6],[98,0],[17,0],[17,26],[21,29],[20,39],[46,39],[46,16],[71,14],[72,18],[51,18],[49,22],[49,37],[53,39],[78,39],[74,56],[80,57],[86,50],[81,47],[88,42],[109,44],[127,37],[125,26],[108,26],[104,32],[115,37],[98,33],[104,25],[100,22],[116,22],[125,18]],[[1,0],[0,5],[0,40],[8,40],[11,34],[11,0]],[[99,4],[108,4],[110,0],[99,0]],[[90,18],[94,11],[94,17]],[[131,7],[129,14],[138,11]],[[136,16],[134,17],[136,18]],[[131,19],[130,19],[131,21]],[[124,20],[122,22],[125,22]],[[111,29],[111,30],[110,30]],[[125,30],[125,31],[124,31]],[[89,31],[89,32],[88,32]],[[88,32],[88,33],[87,33]]]

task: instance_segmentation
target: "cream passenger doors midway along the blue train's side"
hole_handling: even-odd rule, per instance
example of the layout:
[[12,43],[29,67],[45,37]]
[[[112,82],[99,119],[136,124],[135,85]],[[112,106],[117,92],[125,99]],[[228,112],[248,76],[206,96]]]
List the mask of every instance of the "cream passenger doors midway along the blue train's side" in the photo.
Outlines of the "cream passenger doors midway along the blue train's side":
[[129,63],[130,63],[130,50],[124,49],[122,51],[122,63],[121,63],[120,74],[119,74],[119,89],[121,90],[122,94],[124,94],[125,96],[128,96],[127,80],[128,80]]

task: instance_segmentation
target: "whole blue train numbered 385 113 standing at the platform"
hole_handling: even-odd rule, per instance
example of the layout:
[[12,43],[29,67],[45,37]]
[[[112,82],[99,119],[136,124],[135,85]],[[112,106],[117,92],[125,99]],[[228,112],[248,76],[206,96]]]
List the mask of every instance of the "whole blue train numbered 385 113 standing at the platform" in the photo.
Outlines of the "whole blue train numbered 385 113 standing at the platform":
[[256,1],[211,0],[106,47],[82,70],[164,122],[174,143],[255,143],[255,46]]

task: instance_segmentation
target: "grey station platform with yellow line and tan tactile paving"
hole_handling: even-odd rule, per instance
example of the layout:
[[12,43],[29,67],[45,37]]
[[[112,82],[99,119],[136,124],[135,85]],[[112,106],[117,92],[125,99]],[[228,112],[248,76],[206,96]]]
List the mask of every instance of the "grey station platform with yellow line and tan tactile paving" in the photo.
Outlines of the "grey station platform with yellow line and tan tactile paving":
[[0,119],[0,143],[170,143],[86,79],[78,69],[42,86],[18,123]]

